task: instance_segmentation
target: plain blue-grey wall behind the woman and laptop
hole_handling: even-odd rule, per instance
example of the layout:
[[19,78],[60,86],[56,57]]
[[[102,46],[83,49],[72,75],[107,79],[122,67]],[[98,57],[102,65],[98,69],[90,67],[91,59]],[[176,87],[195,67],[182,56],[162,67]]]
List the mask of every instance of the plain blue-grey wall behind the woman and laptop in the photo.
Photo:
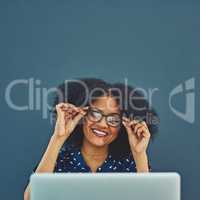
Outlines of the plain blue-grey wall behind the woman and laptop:
[[[21,199],[33,166],[52,134],[42,111],[14,111],[4,95],[15,79],[39,79],[41,88],[65,79],[99,77],[145,89],[159,88],[153,105],[160,133],[149,149],[154,171],[182,176],[182,199],[199,195],[199,1],[6,1],[0,2],[0,195]],[[196,81],[196,120],[174,115],[168,95]],[[27,102],[25,86],[12,93]],[[177,109],[184,110],[184,94]]]

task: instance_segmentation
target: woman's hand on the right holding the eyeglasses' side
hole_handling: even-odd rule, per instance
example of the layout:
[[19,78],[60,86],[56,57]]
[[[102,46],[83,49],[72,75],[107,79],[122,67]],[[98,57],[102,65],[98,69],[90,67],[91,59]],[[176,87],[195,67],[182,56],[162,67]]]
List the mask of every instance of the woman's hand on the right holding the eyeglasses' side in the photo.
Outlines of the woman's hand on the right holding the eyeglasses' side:
[[131,121],[128,118],[123,117],[123,125],[127,130],[132,152],[134,154],[146,153],[151,137],[147,124],[144,121]]

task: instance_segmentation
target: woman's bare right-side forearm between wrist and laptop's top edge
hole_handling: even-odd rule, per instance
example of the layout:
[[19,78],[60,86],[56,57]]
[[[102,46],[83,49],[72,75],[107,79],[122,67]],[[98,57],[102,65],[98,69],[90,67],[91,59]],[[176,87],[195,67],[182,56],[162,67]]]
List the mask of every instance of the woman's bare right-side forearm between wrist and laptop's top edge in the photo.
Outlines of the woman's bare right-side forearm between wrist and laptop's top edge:
[[132,152],[137,172],[149,172],[148,156],[146,152],[135,153]]

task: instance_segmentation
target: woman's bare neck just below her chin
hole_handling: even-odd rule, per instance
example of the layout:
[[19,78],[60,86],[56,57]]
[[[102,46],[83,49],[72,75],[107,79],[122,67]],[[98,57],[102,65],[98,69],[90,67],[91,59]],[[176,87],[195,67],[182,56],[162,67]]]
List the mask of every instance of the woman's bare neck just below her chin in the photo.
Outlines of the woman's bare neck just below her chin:
[[81,151],[83,155],[94,160],[105,160],[108,155],[108,146],[97,147],[92,145],[87,139],[83,139]]

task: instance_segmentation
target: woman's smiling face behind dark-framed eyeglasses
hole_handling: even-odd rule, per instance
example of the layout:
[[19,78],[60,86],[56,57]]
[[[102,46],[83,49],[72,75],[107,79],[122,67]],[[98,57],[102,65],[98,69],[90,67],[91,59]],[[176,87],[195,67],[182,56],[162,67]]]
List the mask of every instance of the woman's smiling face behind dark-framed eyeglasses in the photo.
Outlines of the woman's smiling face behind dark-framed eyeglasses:
[[[98,110],[105,116],[111,116],[109,118],[107,117],[107,121],[109,120],[111,124],[117,122],[113,121],[116,120],[116,116],[120,116],[119,106],[115,99],[112,97],[99,97],[90,106],[92,110]],[[98,117],[98,115],[98,112],[96,114],[94,113],[94,117]],[[83,125],[84,139],[86,139],[87,142],[94,146],[107,146],[117,138],[120,127],[111,126],[106,121],[105,116],[102,117],[98,122],[95,122],[95,120],[92,119],[93,116],[91,117],[91,115],[86,115],[85,117]],[[115,118],[112,116],[115,116]]]

